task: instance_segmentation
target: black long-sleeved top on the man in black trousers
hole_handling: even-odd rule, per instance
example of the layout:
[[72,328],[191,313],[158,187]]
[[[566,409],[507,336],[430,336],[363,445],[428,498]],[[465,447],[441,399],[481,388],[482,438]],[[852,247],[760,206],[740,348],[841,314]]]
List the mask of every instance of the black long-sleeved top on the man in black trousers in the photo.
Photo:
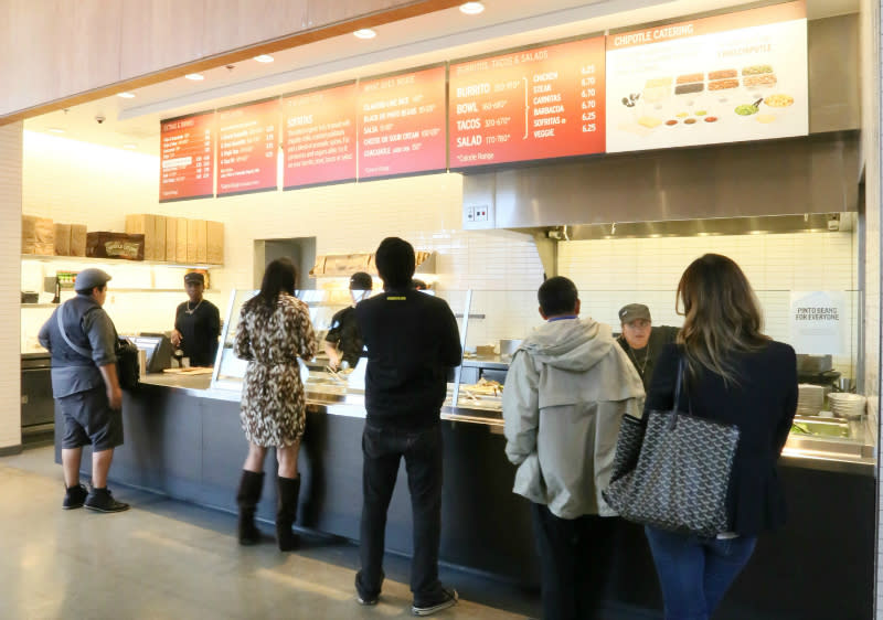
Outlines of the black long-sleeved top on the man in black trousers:
[[359,302],[355,319],[368,348],[368,420],[397,428],[437,423],[447,370],[462,357],[447,302],[416,290],[386,290]]

